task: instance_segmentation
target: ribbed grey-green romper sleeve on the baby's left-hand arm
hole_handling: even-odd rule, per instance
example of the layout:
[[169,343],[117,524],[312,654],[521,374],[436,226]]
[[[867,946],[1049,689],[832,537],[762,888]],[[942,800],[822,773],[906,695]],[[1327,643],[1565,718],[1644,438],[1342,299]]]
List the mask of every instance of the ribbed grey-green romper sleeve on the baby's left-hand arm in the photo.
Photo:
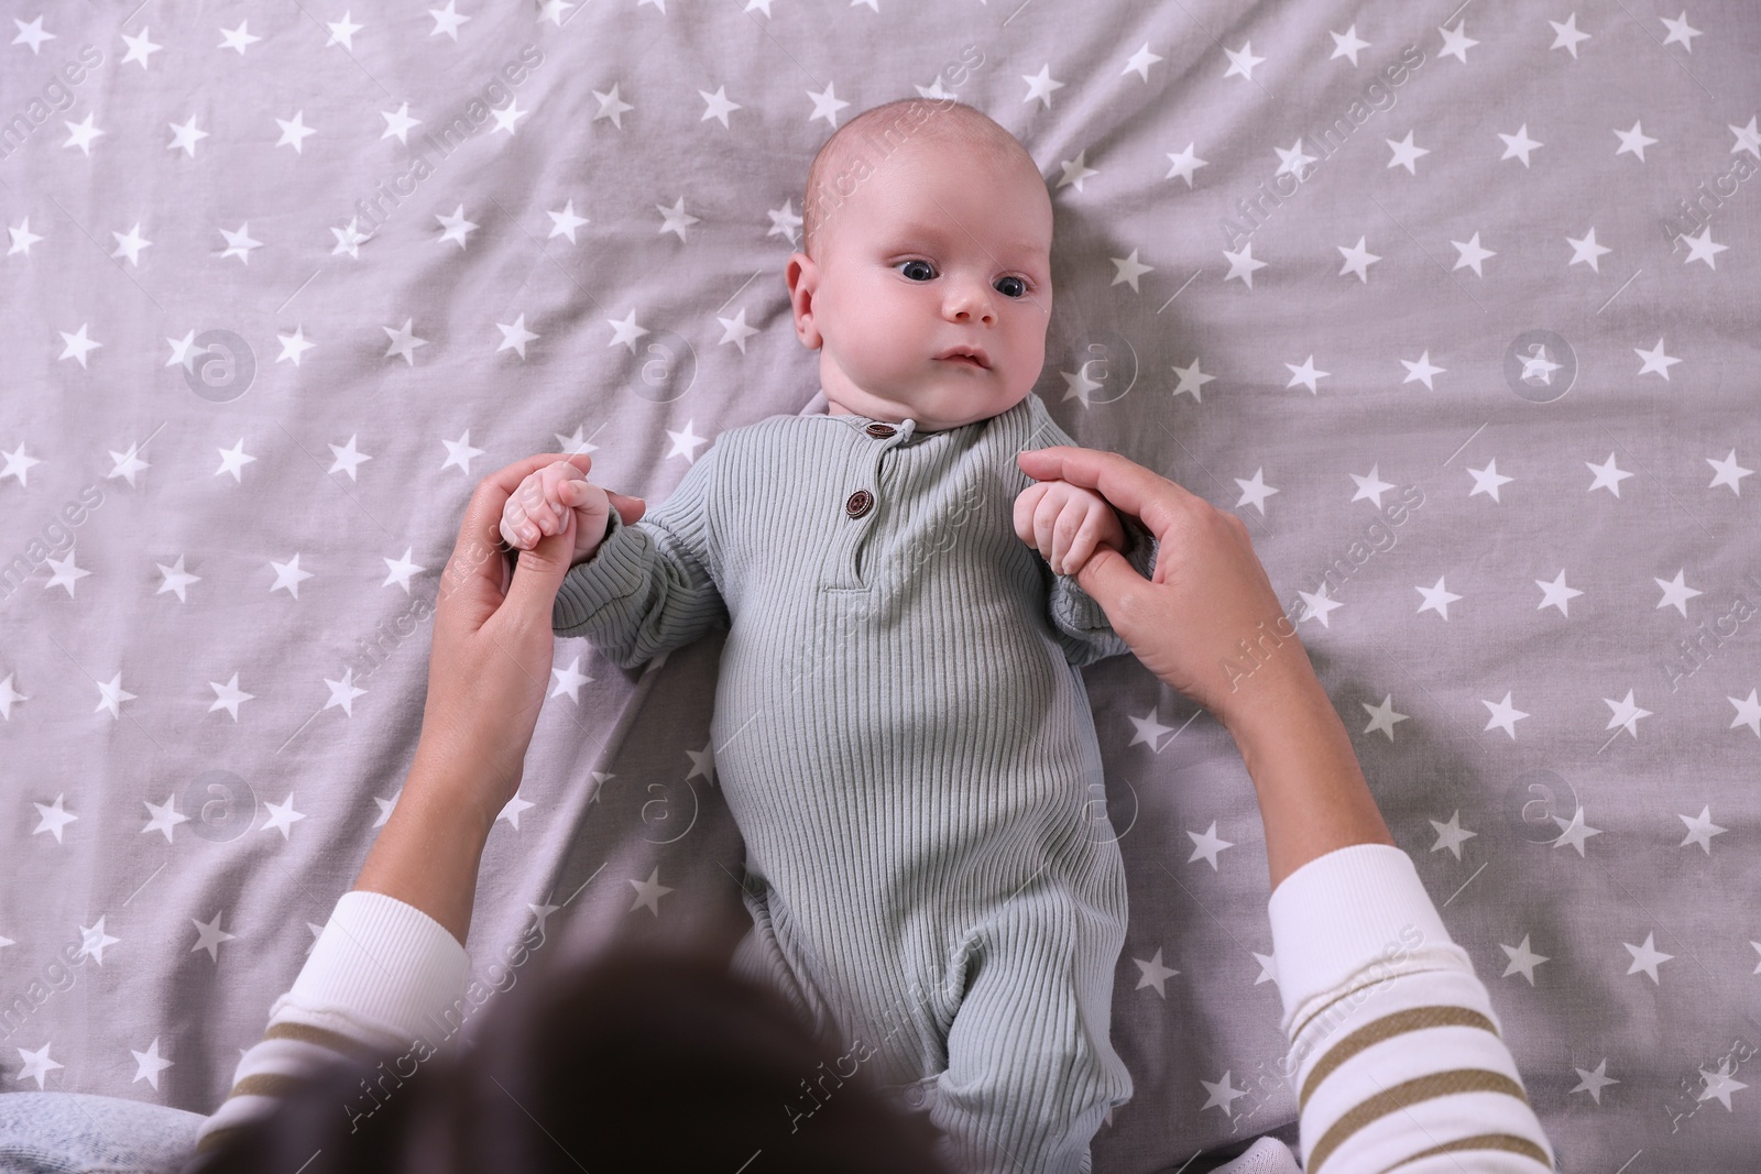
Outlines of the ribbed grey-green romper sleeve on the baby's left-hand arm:
[[611,510],[604,542],[564,576],[556,635],[585,635],[623,669],[727,623],[717,588],[713,493],[726,444],[704,452],[678,489],[636,525]]

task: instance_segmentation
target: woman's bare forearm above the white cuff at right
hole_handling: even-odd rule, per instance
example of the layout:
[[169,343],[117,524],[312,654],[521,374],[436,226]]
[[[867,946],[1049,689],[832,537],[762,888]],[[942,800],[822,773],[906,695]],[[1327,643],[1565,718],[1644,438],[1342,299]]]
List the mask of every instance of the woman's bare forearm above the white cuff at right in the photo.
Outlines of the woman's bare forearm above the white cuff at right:
[[1224,720],[1259,797],[1273,889],[1335,848],[1395,841],[1307,653],[1289,651],[1301,664],[1243,681]]

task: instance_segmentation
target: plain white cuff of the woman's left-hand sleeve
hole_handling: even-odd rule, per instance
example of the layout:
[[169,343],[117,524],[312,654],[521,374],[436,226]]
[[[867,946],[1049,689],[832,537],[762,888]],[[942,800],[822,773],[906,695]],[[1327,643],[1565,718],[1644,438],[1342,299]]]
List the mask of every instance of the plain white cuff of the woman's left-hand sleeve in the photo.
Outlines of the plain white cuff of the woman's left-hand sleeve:
[[342,894],[305,968],[269,1009],[342,1012],[400,1038],[431,1033],[470,975],[470,954],[440,922],[382,892]]

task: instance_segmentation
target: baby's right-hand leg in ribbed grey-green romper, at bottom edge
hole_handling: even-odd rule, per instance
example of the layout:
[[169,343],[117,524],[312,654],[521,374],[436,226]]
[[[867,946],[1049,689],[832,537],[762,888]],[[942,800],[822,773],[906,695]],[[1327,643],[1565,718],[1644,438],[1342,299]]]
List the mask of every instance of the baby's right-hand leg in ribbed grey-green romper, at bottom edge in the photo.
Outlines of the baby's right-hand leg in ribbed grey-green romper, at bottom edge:
[[928,1082],[956,1169],[1087,1174],[1102,1116],[1131,1098],[1108,1035],[1125,943],[1116,866],[1095,866],[1101,892],[1037,884],[972,936],[947,1068]]

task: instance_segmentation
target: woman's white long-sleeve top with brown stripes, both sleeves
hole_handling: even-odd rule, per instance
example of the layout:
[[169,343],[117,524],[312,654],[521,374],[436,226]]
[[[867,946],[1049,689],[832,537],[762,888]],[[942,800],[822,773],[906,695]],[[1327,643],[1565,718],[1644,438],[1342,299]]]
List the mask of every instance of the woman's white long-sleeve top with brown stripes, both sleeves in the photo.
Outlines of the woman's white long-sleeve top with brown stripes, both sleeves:
[[[1486,987],[1405,852],[1330,852],[1291,873],[1268,914],[1308,1174],[1551,1170]],[[379,892],[345,892],[195,1151],[271,1112],[291,1081],[338,1054],[438,1049],[483,1002],[468,973],[440,922]],[[363,1095],[361,1112],[373,1104]],[[1296,1169],[1277,1142],[1252,1162]]]

